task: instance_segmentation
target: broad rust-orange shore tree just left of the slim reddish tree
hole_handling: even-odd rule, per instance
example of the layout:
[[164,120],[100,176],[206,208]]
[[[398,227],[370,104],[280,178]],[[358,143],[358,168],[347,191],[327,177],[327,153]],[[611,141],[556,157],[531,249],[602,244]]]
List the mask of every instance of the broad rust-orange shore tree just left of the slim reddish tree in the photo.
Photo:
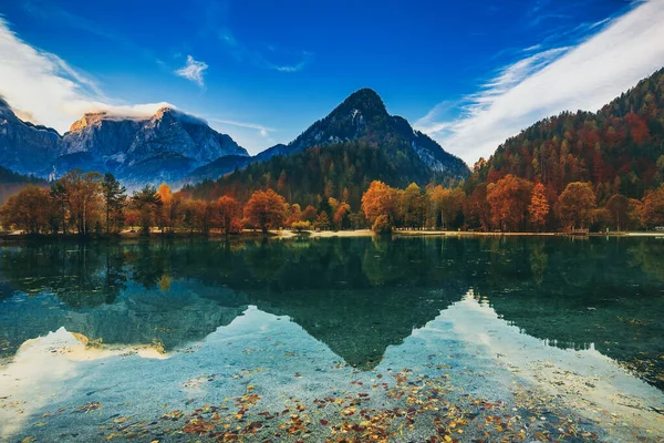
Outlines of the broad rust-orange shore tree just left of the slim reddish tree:
[[532,183],[511,174],[487,187],[487,202],[491,206],[494,225],[502,230],[523,228],[527,218]]

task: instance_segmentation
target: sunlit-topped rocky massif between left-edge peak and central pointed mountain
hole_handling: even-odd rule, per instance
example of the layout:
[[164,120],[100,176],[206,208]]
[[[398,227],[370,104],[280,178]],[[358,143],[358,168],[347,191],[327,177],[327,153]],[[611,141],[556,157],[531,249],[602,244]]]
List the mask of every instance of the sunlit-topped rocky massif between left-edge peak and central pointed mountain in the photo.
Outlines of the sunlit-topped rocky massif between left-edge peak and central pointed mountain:
[[149,119],[118,119],[85,114],[62,138],[62,156],[54,167],[111,171],[128,182],[177,181],[227,155],[248,156],[230,136],[203,120],[163,107]]

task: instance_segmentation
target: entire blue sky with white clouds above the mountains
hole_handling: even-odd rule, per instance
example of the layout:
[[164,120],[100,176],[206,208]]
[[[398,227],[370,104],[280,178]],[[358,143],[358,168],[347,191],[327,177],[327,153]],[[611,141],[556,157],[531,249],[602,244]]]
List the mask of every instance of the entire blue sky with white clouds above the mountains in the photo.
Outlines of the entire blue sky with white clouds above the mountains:
[[471,166],[599,110],[664,66],[662,42],[664,0],[1,0],[0,95],[60,133],[169,104],[256,154],[371,87]]

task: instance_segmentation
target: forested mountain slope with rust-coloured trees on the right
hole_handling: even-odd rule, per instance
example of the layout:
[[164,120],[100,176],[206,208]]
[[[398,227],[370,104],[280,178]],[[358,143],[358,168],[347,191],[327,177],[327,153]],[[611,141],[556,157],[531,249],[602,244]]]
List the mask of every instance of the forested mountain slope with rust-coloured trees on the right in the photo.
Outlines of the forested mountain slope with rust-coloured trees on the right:
[[507,140],[467,185],[507,174],[539,181],[552,196],[571,182],[591,182],[600,202],[641,198],[664,181],[664,69],[596,113],[564,112]]

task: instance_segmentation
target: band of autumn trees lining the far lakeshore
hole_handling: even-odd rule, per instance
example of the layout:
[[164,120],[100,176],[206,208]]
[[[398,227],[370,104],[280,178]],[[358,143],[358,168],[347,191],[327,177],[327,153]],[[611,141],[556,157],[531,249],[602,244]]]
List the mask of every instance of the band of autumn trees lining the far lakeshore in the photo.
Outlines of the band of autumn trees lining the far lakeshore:
[[373,181],[359,206],[349,199],[321,198],[314,205],[288,203],[277,190],[257,189],[246,199],[225,194],[197,199],[190,190],[173,192],[167,184],[145,186],[131,196],[112,175],[74,169],[50,188],[30,185],[0,208],[6,229],[32,235],[108,236],[123,229],[143,235],[239,234],[246,228],[343,230],[372,228],[474,231],[595,231],[652,229],[664,226],[664,185],[641,199],[614,194],[600,203],[587,182],[569,183],[551,200],[542,183],[511,174],[478,184],[468,195],[454,188],[411,183],[405,188]]

